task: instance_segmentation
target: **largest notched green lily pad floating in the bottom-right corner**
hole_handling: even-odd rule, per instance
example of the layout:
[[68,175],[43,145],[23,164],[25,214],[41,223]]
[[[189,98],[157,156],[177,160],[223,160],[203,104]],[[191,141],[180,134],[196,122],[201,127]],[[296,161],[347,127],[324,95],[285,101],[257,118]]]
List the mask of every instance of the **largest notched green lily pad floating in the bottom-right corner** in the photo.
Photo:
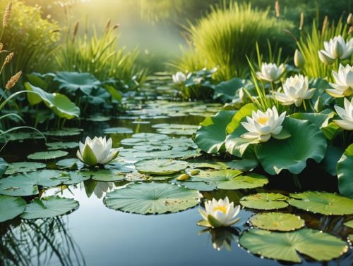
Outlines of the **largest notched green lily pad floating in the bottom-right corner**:
[[345,241],[313,229],[287,233],[250,229],[239,237],[239,243],[251,253],[289,262],[301,262],[298,252],[314,260],[328,261],[348,251]]

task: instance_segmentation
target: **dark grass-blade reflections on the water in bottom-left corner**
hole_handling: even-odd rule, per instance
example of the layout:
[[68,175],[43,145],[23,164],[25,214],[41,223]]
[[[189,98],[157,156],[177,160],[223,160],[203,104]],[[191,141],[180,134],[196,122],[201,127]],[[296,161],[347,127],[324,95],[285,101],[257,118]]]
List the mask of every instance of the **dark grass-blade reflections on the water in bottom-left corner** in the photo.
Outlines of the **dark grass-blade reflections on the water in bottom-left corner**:
[[62,217],[22,220],[0,231],[1,265],[85,265],[83,255],[68,234]]

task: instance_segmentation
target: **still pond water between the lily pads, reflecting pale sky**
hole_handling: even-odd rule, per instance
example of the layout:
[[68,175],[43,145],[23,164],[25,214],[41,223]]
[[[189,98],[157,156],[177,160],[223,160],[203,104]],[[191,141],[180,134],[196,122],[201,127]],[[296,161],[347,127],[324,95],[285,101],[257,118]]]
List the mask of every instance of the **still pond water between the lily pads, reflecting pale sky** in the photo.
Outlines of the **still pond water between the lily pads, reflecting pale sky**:
[[[152,86],[157,86],[159,91],[166,89],[157,82]],[[164,95],[167,95],[167,91]],[[220,105],[215,103],[182,103],[158,98],[145,101],[124,116],[109,118],[104,122],[92,121],[102,118],[82,121],[80,125],[76,125],[83,129],[80,135],[48,137],[48,141],[77,142],[83,141],[86,136],[110,135],[114,139],[114,147],[124,147],[118,158],[119,164],[131,167],[134,160],[146,157],[146,152],[152,156],[155,156],[155,153],[148,151],[148,148],[140,154],[136,150],[129,151],[131,145],[121,145],[122,139],[139,133],[165,133],[177,139],[185,138],[175,146],[188,143],[187,139],[191,138],[190,133],[195,129],[193,127],[188,129],[186,126],[175,129],[172,125],[198,125],[204,119],[202,113],[216,113],[219,108]],[[161,126],[163,123],[170,125]],[[104,129],[112,127],[124,127],[124,130],[127,128],[132,131],[123,134],[104,133]],[[114,130],[124,132],[121,128]],[[8,163],[13,163],[28,160],[26,156],[35,151],[46,150],[47,146],[42,140],[11,141],[3,154]],[[76,158],[76,148],[67,151],[69,154],[65,158]],[[181,151],[185,152],[185,149]],[[187,151],[188,156],[196,153],[192,144]],[[156,154],[157,156],[164,154],[164,158],[167,157],[166,153]],[[56,168],[54,163],[61,159],[63,158],[48,160],[47,167]],[[193,162],[204,160],[202,157]],[[16,218],[1,223],[1,265],[288,265],[288,262],[251,255],[239,247],[237,243],[239,234],[249,229],[247,224],[249,217],[260,211],[243,208],[239,213],[241,220],[234,227],[207,230],[196,224],[201,219],[197,207],[172,214],[138,215],[112,210],[104,205],[103,198],[108,191],[129,182],[145,182],[141,178],[143,177],[127,175],[126,180],[120,182],[97,182],[88,179],[80,184],[40,191],[44,196],[56,194],[74,198],[79,202],[79,208],[61,217],[44,220]],[[291,186],[292,181],[288,181],[287,185]],[[323,184],[323,187],[325,186],[330,186],[330,182],[328,185]],[[256,191],[277,192],[279,189],[276,180],[270,180],[270,184],[264,189],[208,191],[203,192],[203,196],[205,198],[229,196],[238,203],[241,196]],[[287,194],[285,191],[281,192]],[[29,201],[31,197],[25,198]],[[292,207],[283,209],[283,212],[300,215],[305,220],[306,227],[322,230],[340,239],[347,239],[348,234],[353,233],[342,225],[343,222],[351,220],[352,215],[323,216]],[[350,249],[345,255],[327,263],[314,262],[306,257],[303,265],[352,265],[352,262],[353,253]]]

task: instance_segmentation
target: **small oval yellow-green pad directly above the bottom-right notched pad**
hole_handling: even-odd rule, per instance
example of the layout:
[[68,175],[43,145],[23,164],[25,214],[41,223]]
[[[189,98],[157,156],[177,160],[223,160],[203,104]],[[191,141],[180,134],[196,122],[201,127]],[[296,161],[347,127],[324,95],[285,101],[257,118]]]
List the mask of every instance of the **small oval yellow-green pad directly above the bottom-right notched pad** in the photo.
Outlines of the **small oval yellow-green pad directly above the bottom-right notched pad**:
[[249,222],[254,227],[273,231],[294,231],[305,225],[301,217],[290,213],[259,213],[253,215]]

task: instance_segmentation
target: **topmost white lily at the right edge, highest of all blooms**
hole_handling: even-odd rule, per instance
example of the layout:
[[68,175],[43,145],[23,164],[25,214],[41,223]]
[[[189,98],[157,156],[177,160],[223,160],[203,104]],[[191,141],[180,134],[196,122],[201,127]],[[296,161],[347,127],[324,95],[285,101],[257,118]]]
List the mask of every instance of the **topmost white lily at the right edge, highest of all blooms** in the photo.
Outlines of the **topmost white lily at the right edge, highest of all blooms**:
[[346,59],[351,56],[353,52],[353,38],[349,42],[345,42],[345,39],[341,35],[333,37],[329,42],[323,42],[325,49],[318,51],[318,57],[325,64],[332,64],[335,59]]

